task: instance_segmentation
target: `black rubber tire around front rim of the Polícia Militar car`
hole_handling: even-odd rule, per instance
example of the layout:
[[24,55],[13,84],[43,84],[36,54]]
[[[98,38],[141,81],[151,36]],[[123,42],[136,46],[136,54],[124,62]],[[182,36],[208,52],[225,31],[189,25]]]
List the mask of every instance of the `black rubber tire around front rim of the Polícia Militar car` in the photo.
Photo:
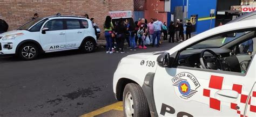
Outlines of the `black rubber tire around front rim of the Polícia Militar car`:
[[129,83],[124,88],[123,93],[123,105],[124,105],[124,115],[126,116],[125,111],[125,98],[126,93],[130,92],[133,99],[133,116],[150,116],[149,105],[147,104],[146,96],[138,84]]

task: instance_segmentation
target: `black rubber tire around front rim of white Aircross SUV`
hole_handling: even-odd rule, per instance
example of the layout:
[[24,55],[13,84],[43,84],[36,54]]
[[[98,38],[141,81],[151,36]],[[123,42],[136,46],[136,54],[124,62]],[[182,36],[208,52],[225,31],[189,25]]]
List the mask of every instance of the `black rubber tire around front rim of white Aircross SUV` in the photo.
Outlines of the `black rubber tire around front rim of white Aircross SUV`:
[[[33,57],[31,57],[31,58],[26,58],[26,57],[24,57],[24,56],[22,55],[22,50],[23,50],[23,48],[24,48],[24,47],[28,47],[28,46],[34,48],[34,50],[35,50],[35,55],[33,55]],[[24,44],[24,45],[22,45],[22,46],[18,49],[18,57],[21,58],[21,59],[24,60],[24,61],[35,60],[35,59],[37,58],[37,56],[38,56],[38,53],[39,53],[38,47],[37,47],[36,45],[32,44],[32,43]]]

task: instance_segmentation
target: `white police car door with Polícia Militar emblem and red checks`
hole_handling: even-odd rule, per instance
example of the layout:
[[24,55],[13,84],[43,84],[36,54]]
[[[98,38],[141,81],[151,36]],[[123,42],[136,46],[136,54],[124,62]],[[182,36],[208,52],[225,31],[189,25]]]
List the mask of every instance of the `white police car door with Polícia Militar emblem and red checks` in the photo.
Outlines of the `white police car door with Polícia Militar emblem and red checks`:
[[[242,116],[255,114],[256,58],[246,74],[199,68],[158,67],[153,81],[159,116]],[[248,97],[250,96],[250,97]],[[251,105],[250,108],[246,106]],[[248,112],[247,112],[248,114]]]

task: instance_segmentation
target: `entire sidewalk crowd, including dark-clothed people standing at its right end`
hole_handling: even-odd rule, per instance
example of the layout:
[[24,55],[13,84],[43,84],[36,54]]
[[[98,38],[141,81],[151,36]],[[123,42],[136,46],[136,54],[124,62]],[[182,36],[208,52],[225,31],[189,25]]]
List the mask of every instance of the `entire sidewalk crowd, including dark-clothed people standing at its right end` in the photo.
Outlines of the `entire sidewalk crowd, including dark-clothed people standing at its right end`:
[[[186,23],[186,39],[191,38],[192,23],[190,20]],[[106,38],[106,53],[113,52],[124,53],[124,42],[129,45],[130,50],[136,48],[146,49],[148,45],[160,47],[160,37],[164,33],[164,40],[167,40],[168,32],[170,34],[169,42],[185,41],[182,20],[177,19],[177,24],[171,21],[169,31],[166,23],[162,23],[156,18],[151,18],[150,23],[144,18],[134,21],[133,18],[112,21],[110,16],[106,17],[104,22],[104,31]],[[176,34],[176,39],[174,36]]]

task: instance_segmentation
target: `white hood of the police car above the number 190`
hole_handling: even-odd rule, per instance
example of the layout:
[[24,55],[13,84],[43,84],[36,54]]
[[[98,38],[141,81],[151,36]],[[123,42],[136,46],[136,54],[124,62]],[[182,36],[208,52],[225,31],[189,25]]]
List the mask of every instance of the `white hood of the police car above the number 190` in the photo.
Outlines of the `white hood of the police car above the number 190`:
[[151,53],[138,53],[126,56],[125,58],[133,58],[133,59],[147,59],[151,57],[158,57],[159,55],[165,53],[166,51],[159,52],[151,52]]

